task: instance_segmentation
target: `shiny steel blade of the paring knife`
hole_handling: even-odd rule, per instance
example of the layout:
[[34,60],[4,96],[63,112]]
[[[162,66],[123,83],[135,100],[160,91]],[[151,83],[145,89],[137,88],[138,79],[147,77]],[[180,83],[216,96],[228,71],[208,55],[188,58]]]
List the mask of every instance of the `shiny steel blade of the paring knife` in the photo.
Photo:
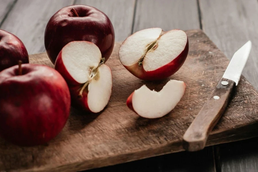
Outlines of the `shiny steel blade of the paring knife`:
[[241,73],[245,67],[245,63],[249,57],[252,43],[248,41],[239,50],[235,52],[232,59],[230,60],[228,67],[223,75],[223,78],[230,79],[238,84],[241,77]]

